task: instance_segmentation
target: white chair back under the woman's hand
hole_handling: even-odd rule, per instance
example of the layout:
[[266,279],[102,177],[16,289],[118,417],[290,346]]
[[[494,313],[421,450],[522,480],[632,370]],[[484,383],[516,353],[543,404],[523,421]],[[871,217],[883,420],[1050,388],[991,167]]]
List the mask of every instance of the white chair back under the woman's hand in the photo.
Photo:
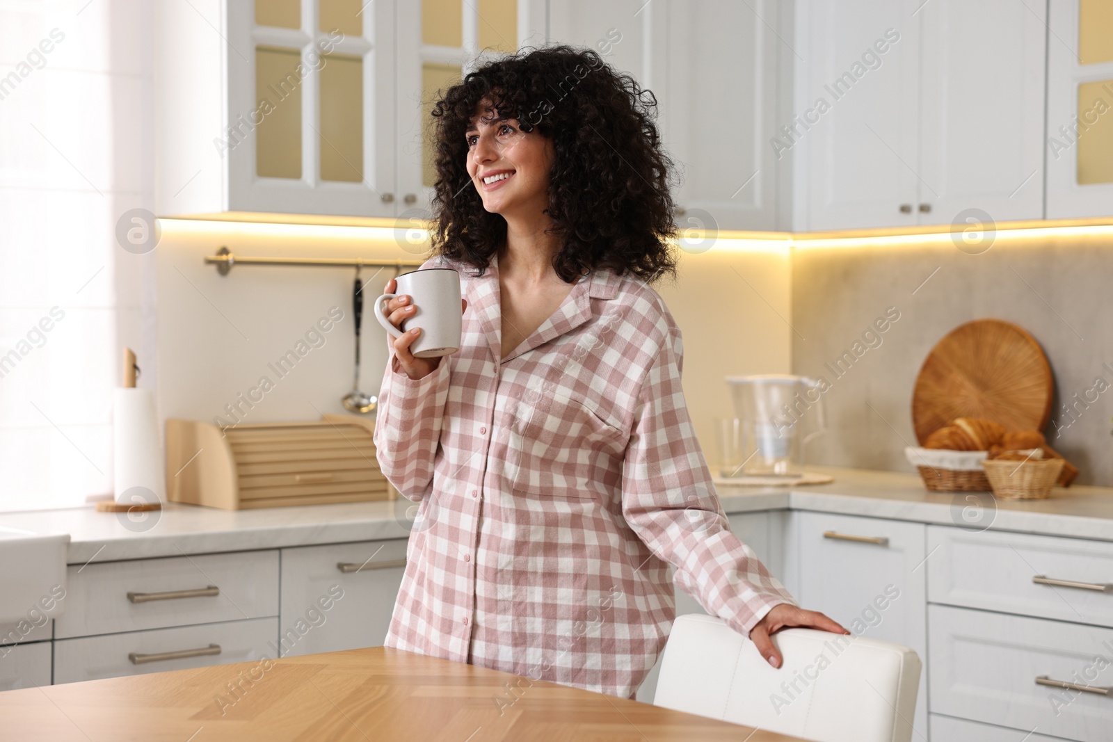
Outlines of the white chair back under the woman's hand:
[[909,742],[920,661],[900,644],[788,629],[775,669],[721,619],[677,617],[653,704],[818,742]]

